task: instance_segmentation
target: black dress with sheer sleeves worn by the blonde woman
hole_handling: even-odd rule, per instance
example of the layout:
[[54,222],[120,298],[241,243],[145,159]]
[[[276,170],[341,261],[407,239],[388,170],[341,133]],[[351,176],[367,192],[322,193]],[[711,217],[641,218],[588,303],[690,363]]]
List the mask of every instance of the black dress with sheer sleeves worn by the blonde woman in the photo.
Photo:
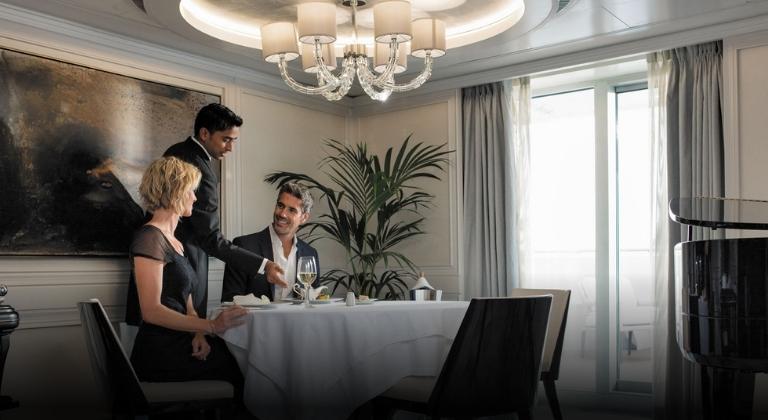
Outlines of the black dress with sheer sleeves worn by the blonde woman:
[[[134,236],[129,257],[146,257],[165,263],[160,303],[178,313],[187,314],[187,298],[194,293],[195,272],[189,261],[176,252],[155,226],[144,225]],[[243,377],[226,344],[218,337],[207,337],[211,352],[206,360],[192,354],[193,333],[171,330],[142,322],[131,353],[131,363],[141,381],[170,382],[203,379],[225,380],[236,388]]]

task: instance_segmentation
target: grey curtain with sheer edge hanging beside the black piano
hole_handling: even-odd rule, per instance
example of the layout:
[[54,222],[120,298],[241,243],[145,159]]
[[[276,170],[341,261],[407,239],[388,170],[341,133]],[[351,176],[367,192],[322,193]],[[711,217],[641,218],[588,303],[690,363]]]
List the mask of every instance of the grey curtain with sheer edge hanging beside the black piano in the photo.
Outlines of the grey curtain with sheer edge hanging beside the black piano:
[[[725,191],[722,130],[722,42],[710,42],[649,56],[649,71],[664,69],[659,92],[665,97],[657,109],[658,138],[666,144],[666,199],[722,197]],[[653,94],[653,92],[652,92]],[[655,139],[658,140],[658,139]],[[659,146],[658,144],[655,146]],[[663,145],[661,145],[663,148]],[[657,191],[657,194],[662,192]],[[660,205],[666,202],[657,200]],[[661,210],[661,209],[659,209]],[[661,213],[665,214],[666,212]],[[676,341],[675,281],[672,251],[685,239],[685,227],[658,217],[656,220],[657,334],[654,345],[655,418],[700,418],[698,368],[682,357]],[[694,229],[694,239],[720,237],[721,231]],[[661,255],[666,253],[666,255]]]

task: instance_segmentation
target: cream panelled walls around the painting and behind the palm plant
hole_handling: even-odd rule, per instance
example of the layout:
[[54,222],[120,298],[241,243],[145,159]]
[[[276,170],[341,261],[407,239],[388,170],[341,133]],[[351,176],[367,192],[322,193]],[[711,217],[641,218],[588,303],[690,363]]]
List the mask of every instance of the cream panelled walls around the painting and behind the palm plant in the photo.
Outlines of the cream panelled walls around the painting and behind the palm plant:
[[[324,139],[367,140],[375,143],[373,149],[379,151],[399,145],[406,133],[414,132],[420,140],[448,142],[451,149],[456,149],[457,103],[453,91],[409,99],[407,105],[395,108],[372,105],[367,114],[352,115],[343,105],[286,94],[275,88],[282,85],[278,78],[7,9],[2,4],[0,48],[221,95],[223,103],[245,120],[236,151],[223,166],[222,226],[230,238],[260,230],[269,223],[275,194],[274,188],[262,181],[268,172],[320,174],[317,163]],[[404,110],[404,106],[410,109]],[[366,135],[358,136],[359,132]],[[430,236],[425,240],[429,247],[421,247],[421,242],[406,250],[432,275],[430,280],[448,292],[460,289],[456,249],[458,168],[456,157],[453,159],[442,182],[427,184],[438,204],[427,224]],[[315,213],[320,211],[322,205]],[[324,270],[345,264],[332,244],[321,242],[318,248]],[[5,302],[14,306],[21,317],[19,328],[11,335],[0,394],[20,400],[26,409],[96,404],[99,394],[75,305],[97,297],[113,320],[121,320],[128,268],[124,258],[0,257],[0,283],[9,287]],[[222,275],[223,264],[212,260],[211,303],[219,300]],[[19,418],[14,412],[4,413],[4,418]]]

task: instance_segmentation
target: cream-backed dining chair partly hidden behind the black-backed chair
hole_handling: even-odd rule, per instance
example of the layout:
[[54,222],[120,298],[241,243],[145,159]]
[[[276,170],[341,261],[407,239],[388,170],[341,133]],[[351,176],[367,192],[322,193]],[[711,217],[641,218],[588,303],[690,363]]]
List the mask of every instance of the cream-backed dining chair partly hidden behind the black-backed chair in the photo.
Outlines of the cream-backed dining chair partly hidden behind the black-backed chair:
[[544,341],[544,356],[541,360],[541,382],[544,393],[555,420],[562,420],[560,403],[557,399],[555,381],[560,376],[560,359],[563,354],[565,323],[568,320],[568,307],[571,303],[571,291],[564,289],[512,289],[510,296],[552,295],[552,307],[549,312],[547,338]]

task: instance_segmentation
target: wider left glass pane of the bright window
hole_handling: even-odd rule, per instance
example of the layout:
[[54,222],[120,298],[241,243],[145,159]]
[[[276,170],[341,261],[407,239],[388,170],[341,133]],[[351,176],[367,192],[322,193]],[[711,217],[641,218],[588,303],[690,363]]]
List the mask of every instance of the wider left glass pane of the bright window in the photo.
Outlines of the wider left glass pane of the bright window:
[[534,98],[531,117],[532,288],[570,289],[559,386],[595,382],[594,90]]

